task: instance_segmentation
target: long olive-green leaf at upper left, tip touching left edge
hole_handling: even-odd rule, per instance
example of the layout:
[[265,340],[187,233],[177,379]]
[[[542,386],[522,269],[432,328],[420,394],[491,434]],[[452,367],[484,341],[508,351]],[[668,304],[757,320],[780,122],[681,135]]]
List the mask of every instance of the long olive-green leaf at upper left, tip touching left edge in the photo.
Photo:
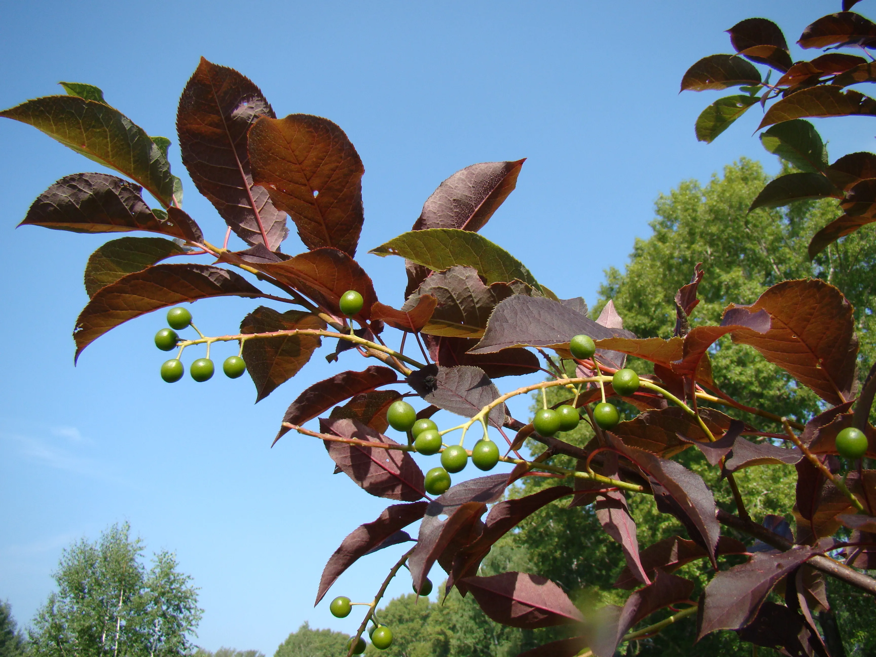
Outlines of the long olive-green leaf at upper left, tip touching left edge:
[[102,166],[136,180],[166,205],[173,199],[173,175],[164,153],[131,119],[102,102],[73,95],[49,95],[0,112],[30,124]]

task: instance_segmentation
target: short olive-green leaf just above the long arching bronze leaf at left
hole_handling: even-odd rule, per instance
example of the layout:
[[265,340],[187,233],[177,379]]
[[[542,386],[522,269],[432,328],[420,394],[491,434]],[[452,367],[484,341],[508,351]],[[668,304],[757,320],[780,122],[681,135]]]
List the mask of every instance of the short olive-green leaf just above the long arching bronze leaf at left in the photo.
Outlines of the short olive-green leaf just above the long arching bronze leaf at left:
[[103,244],[85,265],[85,291],[93,297],[103,286],[150,265],[185,253],[179,244],[164,237],[121,237]]

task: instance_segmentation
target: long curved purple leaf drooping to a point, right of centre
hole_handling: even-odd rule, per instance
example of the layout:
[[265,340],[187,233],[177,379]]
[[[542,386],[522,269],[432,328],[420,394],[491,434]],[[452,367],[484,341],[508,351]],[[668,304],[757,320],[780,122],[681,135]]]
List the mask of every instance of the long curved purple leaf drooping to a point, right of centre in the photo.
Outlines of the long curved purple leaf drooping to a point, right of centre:
[[654,500],[661,512],[672,513],[688,529],[690,538],[703,545],[710,555],[717,548],[720,527],[715,517],[715,498],[702,477],[681,463],[668,461],[650,452],[627,447],[617,436],[606,432],[611,447],[639,466],[651,481]]

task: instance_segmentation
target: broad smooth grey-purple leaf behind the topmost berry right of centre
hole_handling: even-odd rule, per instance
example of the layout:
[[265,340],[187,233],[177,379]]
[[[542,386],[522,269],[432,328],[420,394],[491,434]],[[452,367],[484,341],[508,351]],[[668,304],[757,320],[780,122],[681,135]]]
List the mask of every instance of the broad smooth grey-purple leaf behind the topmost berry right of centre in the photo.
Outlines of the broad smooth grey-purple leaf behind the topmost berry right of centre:
[[498,304],[484,337],[474,354],[488,354],[511,347],[555,347],[569,354],[569,340],[584,334],[594,340],[611,337],[633,337],[624,329],[607,329],[573,308],[545,297],[515,295]]

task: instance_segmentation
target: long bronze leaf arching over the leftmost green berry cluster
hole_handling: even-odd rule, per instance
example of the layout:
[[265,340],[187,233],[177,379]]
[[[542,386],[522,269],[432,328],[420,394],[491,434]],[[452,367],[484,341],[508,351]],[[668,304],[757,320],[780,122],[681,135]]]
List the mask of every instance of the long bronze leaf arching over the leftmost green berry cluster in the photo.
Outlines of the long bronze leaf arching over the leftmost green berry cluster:
[[102,287],[76,318],[76,359],[82,350],[125,321],[178,303],[210,297],[260,297],[243,276],[209,265],[153,265]]

